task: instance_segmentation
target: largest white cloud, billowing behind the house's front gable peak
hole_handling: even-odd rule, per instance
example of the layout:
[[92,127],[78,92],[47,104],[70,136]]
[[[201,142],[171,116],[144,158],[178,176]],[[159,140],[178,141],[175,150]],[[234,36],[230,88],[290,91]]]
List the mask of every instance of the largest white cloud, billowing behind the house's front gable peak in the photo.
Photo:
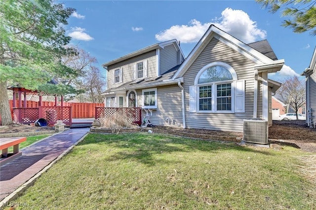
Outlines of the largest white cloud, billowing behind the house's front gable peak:
[[258,29],[256,22],[252,21],[247,13],[226,8],[222,16],[215,19],[215,22],[201,23],[193,19],[188,25],[171,26],[170,29],[156,34],[156,39],[165,41],[176,38],[182,43],[197,42],[211,24],[245,43],[264,39],[267,36],[267,32]]

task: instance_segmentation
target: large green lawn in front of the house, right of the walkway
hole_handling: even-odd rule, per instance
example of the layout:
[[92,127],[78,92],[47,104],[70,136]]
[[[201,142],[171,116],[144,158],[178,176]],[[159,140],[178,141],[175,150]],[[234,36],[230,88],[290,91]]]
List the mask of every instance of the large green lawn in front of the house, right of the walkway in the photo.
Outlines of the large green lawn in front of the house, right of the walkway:
[[14,202],[30,210],[311,210],[311,183],[298,169],[307,154],[148,133],[89,134]]

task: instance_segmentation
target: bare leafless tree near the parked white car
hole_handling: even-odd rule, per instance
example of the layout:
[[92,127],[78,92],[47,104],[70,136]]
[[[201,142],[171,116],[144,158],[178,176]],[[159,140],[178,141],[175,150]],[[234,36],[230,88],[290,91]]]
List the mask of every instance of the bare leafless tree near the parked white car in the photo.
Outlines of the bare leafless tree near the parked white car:
[[284,104],[290,105],[296,113],[300,107],[305,105],[305,81],[298,76],[292,76],[282,82],[282,86],[277,91],[278,99]]

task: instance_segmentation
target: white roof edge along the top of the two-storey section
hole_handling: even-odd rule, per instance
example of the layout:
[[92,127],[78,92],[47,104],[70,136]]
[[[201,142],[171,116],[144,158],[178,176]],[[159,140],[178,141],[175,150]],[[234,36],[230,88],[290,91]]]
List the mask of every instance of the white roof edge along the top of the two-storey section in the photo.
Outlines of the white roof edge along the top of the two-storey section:
[[102,64],[102,67],[106,68],[106,67],[108,67],[110,65],[116,64],[116,63],[124,61],[124,60],[127,60],[129,58],[133,58],[135,56],[142,55],[144,53],[147,53],[147,52],[150,52],[150,51],[153,51],[153,50],[156,50],[156,49],[163,49],[165,46],[168,46],[170,44],[173,44],[173,46],[177,50],[180,50],[183,58],[185,58],[185,56],[183,55],[183,52],[182,52],[182,50],[180,48],[180,45],[179,45],[179,42],[177,41],[177,39],[171,39],[169,41],[163,41],[163,42],[160,42],[160,43],[156,43],[156,44],[150,45],[150,46],[145,47],[143,49],[140,49],[140,50],[137,50],[135,52],[129,53],[127,55],[124,55],[124,56],[122,56],[122,57],[120,57],[118,59],[115,59],[115,60],[109,61],[107,63],[104,63],[104,64]]

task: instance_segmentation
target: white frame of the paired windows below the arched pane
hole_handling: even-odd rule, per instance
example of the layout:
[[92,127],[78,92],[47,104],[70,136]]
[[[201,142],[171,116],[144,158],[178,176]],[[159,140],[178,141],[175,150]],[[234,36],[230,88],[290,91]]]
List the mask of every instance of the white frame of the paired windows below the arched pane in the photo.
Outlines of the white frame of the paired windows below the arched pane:
[[[218,84],[231,84],[232,110],[217,110],[217,88]],[[212,110],[199,110],[199,87],[212,86]],[[235,113],[235,86],[233,80],[210,82],[197,85],[197,113]]]

